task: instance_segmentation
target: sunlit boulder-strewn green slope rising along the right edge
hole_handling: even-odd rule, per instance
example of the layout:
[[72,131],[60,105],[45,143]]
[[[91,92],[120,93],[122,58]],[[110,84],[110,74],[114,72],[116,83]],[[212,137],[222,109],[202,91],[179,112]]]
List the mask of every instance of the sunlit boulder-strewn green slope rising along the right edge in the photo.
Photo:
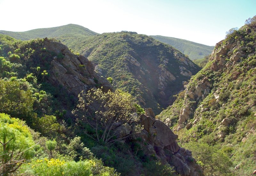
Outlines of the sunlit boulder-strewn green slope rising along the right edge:
[[256,16],[216,44],[206,66],[158,116],[178,130],[178,141],[200,158],[205,175],[255,173],[255,38]]

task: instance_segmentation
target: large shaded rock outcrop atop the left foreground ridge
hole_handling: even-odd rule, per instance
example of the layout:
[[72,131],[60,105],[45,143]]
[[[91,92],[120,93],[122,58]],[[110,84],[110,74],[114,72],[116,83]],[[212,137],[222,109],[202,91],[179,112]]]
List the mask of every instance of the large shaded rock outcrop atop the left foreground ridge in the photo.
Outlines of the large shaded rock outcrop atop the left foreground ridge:
[[[87,91],[92,87],[102,87],[103,91],[112,89],[111,84],[94,71],[94,66],[82,55],[71,53],[67,46],[59,42],[44,39],[47,51],[56,53],[51,62],[49,81],[52,84],[62,85],[69,93],[77,96],[81,91]],[[63,58],[57,55],[62,54]]]

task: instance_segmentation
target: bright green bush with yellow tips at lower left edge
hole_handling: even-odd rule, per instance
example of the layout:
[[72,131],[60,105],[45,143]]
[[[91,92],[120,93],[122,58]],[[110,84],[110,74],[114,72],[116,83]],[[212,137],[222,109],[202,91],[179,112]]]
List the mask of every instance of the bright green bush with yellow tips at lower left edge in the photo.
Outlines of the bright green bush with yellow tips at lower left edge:
[[0,113],[0,175],[15,172],[35,155],[29,128],[25,123]]

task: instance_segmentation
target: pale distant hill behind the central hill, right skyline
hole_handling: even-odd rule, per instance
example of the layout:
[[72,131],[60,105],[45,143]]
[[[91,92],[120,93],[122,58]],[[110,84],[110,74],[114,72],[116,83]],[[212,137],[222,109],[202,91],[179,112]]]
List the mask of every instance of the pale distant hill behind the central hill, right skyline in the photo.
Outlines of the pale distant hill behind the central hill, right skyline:
[[188,55],[189,59],[191,60],[201,59],[204,56],[209,56],[214,48],[214,46],[207,46],[174,37],[165,37],[161,35],[152,35],[150,37],[177,48],[181,53]]

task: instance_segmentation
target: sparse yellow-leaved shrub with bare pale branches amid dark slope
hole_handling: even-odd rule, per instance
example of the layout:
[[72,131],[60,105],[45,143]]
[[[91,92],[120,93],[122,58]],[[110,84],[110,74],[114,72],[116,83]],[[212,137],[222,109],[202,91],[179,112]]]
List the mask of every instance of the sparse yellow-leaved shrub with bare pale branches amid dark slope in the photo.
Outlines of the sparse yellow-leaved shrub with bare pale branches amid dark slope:
[[87,94],[82,92],[79,95],[78,108],[86,113],[85,121],[95,131],[95,134],[86,134],[107,144],[131,136],[132,133],[120,137],[122,130],[117,128],[122,124],[136,126],[137,119],[131,116],[135,111],[132,104],[132,95],[121,90],[104,93],[100,89],[92,89]]

